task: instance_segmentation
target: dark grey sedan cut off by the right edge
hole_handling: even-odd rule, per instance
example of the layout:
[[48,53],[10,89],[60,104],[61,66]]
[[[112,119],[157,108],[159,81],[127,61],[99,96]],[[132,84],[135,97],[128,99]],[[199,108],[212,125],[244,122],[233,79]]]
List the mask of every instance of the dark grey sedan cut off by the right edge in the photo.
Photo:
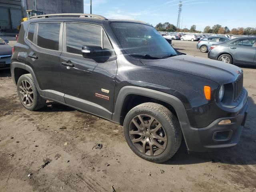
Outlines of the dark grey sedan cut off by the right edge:
[[230,64],[256,64],[256,38],[235,38],[221,44],[213,44],[208,58]]

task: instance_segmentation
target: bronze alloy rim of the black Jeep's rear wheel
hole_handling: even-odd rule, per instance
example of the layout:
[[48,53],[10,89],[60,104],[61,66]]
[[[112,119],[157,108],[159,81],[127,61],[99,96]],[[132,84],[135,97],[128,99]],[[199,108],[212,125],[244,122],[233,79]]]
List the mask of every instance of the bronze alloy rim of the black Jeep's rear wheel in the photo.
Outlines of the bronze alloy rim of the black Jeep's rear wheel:
[[34,102],[34,91],[27,80],[22,80],[19,85],[19,94],[22,102],[26,106],[31,106]]

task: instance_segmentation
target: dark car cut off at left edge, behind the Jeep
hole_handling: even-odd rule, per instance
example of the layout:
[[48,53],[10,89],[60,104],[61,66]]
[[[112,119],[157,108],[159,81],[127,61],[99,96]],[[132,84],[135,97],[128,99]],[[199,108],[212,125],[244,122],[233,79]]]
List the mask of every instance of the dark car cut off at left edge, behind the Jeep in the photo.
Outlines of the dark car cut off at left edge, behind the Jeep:
[[12,48],[8,42],[0,38],[0,70],[10,68]]

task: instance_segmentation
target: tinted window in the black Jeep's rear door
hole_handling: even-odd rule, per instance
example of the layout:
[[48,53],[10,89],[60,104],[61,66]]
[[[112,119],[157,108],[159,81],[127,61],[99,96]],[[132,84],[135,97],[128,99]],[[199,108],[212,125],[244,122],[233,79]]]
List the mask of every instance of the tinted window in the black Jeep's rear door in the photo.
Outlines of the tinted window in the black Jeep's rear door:
[[59,50],[60,23],[38,24],[37,45],[52,50]]

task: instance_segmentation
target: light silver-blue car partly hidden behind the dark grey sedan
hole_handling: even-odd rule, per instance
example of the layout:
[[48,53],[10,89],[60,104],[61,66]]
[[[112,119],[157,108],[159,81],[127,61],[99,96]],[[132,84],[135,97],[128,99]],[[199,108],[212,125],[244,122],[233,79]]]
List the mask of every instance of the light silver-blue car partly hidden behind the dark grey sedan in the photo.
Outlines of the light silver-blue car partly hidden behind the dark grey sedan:
[[198,41],[198,44],[196,45],[196,48],[200,49],[201,52],[206,53],[208,52],[208,50],[210,50],[210,47],[212,46],[212,44],[222,43],[228,40],[230,40],[230,38],[210,36],[210,37],[200,39]]

